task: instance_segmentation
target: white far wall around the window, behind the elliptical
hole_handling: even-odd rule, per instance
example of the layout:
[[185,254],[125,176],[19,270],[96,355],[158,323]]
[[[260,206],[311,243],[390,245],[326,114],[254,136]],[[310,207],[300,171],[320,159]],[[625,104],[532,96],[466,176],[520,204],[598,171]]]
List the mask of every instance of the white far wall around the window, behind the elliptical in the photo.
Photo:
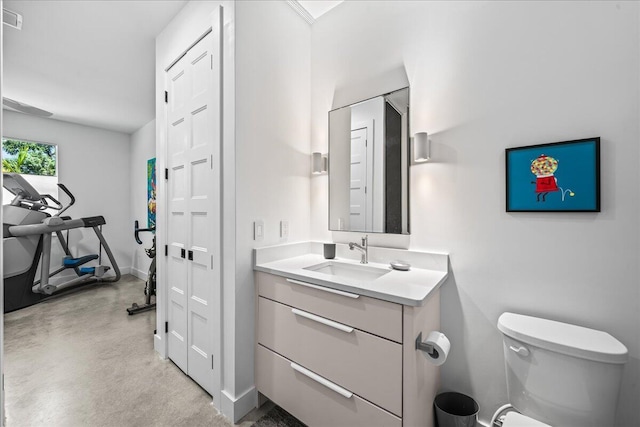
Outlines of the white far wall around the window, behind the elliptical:
[[[129,273],[132,249],[129,135],[12,111],[2,113],[5,135],[58,146],[58,182],[65,184],[76,198],[65,215],[73,218],[102,215],[107,221],[102,230],[104,237],[122,274]],[[61,202],[68,202],[66,195],[59,197]],[[71,230],[70,241],[74,255],[98,253],[99,243],[93,230]],[[104,252],[103,257],[106,259]],[[52,266],[56,262],[52,259]]]

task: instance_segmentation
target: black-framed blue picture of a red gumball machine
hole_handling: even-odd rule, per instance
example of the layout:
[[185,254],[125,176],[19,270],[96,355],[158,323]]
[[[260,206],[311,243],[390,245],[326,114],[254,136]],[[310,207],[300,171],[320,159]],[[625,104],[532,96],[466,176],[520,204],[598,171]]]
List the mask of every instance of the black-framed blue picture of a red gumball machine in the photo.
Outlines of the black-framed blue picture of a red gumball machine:
[[507,212],[600,212],[600,138],[506,149]]

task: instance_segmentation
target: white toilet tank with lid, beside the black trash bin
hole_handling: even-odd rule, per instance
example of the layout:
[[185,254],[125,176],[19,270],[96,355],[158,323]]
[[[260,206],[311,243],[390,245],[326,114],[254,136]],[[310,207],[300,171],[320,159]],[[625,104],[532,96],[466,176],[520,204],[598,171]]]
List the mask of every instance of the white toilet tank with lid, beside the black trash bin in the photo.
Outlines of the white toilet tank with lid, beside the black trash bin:
[[557,427],[603,427],[615,411],[627,348],[606,332],[514,313],[503,333],[509,402]]

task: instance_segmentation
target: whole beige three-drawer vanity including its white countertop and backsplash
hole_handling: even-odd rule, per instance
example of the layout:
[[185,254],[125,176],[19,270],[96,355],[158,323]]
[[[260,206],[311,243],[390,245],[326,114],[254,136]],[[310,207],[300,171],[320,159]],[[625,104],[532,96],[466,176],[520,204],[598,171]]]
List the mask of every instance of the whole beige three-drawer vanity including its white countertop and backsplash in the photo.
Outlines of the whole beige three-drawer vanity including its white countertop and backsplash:
[[[415,341],[440,327],[448,256],[371,248],[361,265],[346,245],[321,253],[255,250],[258,391],[311,427],[433,425],[439,368]],[[398,259],[410,271],[391,270]]]

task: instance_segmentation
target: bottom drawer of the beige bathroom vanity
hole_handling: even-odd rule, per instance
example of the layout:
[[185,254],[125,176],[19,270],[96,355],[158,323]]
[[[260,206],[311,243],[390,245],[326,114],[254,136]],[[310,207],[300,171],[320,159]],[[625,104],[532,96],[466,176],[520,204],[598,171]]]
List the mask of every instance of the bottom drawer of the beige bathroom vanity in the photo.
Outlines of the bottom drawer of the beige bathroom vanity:
[[[300,372],[302,371],[302,372]],[[402,420],[264,348],[256,349],[258,391],[310,427],[401,427]],[[320,381],[320,382],[319,382]],[[333,387],[333,388],[331,388]]]

